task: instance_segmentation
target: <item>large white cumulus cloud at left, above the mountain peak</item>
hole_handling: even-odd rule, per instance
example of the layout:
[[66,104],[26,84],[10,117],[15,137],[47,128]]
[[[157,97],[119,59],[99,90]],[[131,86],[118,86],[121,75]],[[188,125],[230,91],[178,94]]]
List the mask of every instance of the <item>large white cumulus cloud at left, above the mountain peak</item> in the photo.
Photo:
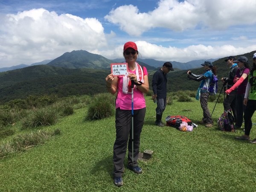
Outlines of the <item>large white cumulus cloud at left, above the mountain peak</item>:
[[2,16],[0,21],[2,64],[31,64],[64,52],[107,45],[104,28],[96,18],[32,9]]

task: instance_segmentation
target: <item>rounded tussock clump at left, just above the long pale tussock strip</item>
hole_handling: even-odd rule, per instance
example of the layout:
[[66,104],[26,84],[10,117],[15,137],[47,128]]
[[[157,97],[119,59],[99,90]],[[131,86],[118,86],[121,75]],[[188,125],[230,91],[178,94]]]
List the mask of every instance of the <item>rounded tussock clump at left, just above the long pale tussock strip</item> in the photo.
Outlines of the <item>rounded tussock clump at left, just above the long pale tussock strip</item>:
[[53,125],[57,122],[58,113],[54,108],[35,109],[22,119],[23,128],[36,128],[38,126]]

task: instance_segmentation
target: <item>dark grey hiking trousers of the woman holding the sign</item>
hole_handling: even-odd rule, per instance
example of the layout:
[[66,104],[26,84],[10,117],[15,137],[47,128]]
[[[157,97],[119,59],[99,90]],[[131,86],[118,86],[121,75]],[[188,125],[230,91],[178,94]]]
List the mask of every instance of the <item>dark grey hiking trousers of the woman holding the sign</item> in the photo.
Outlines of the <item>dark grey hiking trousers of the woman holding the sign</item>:
[[[146,108],[134,110],[134,151],[132,151],[131,110],[116,109],[116,141],[113,147],[114,177],[124,172],[124,159],[128,143],[128,165],[137,166],[140,150],[140,133],[144,124]],[[129,139],[129,141],[128,141]],[[132,152],[134,161],[132,162]]]

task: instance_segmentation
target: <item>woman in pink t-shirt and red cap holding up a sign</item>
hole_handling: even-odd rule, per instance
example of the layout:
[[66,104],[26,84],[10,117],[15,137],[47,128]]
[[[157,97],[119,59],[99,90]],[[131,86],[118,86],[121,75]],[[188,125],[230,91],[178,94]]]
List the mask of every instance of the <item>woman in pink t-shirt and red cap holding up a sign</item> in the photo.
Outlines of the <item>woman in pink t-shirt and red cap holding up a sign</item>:
[[[116,141],[113,146],[114,184],[122,186],[122,175],[124,173],[124,159],[128,143],[128,169],[140,174],[142,169],[138,166],[140,133],[142,131],[146,104],[143,93],[148,93],[148,72],[137,62],[139,52],[134,42],[124,44],[123,55],[128,63],[128,76],[113,76],[113,73],[106,77],[108,92],[116,97]],[[131,140],[131,81],[134,81],[134,151],[132,151]],[[132,162],[132,152],[134,161]]]

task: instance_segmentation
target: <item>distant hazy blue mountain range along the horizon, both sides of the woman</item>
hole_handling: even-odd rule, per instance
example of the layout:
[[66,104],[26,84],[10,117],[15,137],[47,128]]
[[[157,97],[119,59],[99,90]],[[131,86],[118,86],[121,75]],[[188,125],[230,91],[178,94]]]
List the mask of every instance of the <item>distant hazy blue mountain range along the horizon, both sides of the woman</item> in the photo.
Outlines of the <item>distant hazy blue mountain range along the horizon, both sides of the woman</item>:
[[[215,61],[217,59],[207,59],[207,60],[194,60],[186,63],[181,63],[177,61],[171,61],[174,68],[180,70],[192,69],[200,67],[200,64],[204,61]],[[166,61],[157,61],[154,59],[137,59],[139,64],[145,66],[148,70],[154,70],[157,67],[162,67],[163,63]],[[0,68],[0,72],[5,72],[9,70],[21,69],[24,67],[47,64],[55,67],[66,67],[69,69],[79,69],[79,68],[94,68],[94,69],[107,69],[110,67],[111,63],[124,62],[124,58],[108,59],[102,55],[93,54],[84,50],[65,52],[58,58],[47,59],[38,63],[33,63],[31,65],[19,64],[12,67],[3,67]]]

